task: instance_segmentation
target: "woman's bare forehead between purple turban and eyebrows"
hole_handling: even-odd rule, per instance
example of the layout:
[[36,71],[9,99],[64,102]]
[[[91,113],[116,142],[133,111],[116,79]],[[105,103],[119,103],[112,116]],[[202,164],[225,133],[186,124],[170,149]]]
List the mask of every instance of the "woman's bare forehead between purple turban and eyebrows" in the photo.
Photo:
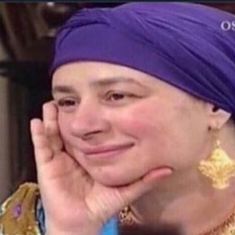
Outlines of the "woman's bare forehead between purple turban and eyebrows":
[[53,74],[52,84],[71,83],[87,84],[95,81],[133,80],[143,85],[153,86],[157,79],[141,71],[126,66],[104,62],[76,62],[59,67]]

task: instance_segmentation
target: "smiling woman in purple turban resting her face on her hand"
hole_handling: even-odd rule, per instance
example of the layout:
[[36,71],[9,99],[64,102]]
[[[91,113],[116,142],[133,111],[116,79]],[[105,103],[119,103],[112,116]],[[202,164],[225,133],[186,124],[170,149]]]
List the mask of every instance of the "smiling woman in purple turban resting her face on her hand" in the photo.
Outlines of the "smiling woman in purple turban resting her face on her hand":
[[129,3],[66,22],[53,101],[31,122],[40,197],[26,184],[6,202],[3,234],[235,233],[234,20]]

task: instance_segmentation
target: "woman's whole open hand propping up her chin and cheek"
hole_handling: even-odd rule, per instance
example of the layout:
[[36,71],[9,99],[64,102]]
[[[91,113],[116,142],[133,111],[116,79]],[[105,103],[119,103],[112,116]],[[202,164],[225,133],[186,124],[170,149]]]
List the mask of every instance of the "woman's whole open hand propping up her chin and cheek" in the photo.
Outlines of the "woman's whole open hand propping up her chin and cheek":
[[63,151],[57,119],[56,105],[48,102],[43,106],[43,122],[31,121],[38,183],[50,235],[99,234],[108,219],[151,190],[158,179],[171,174],[170,169],[158,169],[127,186],[101,185]]

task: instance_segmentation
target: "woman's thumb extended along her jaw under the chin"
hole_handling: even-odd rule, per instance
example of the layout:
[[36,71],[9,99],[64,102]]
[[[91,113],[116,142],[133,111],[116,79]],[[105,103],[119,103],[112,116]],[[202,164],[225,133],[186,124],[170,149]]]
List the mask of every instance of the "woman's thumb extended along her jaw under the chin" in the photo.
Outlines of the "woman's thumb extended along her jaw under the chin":
[[169,167],[154,169],[143,176],[140,180],[123,188],[121,192],[123,202],[125,203],[123,206],[130,204],[145,193],[149,192],[156,186],[156,182],[161,178],[171,175],[172,172],[172,169]]

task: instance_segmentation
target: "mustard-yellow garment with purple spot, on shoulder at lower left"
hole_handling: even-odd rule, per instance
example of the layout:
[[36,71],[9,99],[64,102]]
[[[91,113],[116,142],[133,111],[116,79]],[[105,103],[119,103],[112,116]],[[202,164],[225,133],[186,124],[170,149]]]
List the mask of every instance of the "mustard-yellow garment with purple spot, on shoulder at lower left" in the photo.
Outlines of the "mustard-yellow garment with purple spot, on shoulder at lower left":
[[25,183],[1,207],[0,235],[41,235],[36,221],[37,184]]

